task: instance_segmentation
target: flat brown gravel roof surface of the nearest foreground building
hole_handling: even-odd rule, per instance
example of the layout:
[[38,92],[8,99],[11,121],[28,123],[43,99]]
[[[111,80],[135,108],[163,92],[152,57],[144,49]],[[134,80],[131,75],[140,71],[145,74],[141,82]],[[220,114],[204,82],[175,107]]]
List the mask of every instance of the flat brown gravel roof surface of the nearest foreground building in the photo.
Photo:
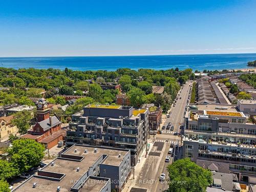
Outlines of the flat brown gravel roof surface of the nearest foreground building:
[[[97,148],[97,152],[94,152],[94,149]],[[76,152],[75,152],[76,150]],[[84,153],[84,150],[87,150],[87,153]],[[75,184],[72,181],[79,180],[89,168],[102,156],[106,155],[105,159],[101,162],[101,164],[119,166],[122,162],[123,157],[129,153],[127,150],[121,150],[118,148],[111,147],[95,147],[88,145],[73,145],[66,152],[62,153],[62,155],[73,155],[73,156],[83,156],[84,158],[81,161],[75,161],[64,158],[56,158],[52,162],[54,165],[51,166],[51,163],[46,165],[41,171],[65,174],[65,176],[60,181],[53,181],[50,179],[37,178],[36,176],[31,177],[27,181],[25,181],[18,188],[14,189],[14,191],[20,192],[45,192],[45,191],[56,191],[57,187],[60,186],[60,191],[70,191],[71,187]],[[120,155],[120,157],[119,157]],[[77,168],[80,168],[79,172],[77,172]],[[89,189],[83,187],[82,191],[99,191],[99,190],[90,190],[90,188],[94,185],[91,185],[88,180],[87,186]],[[36,188],[33,188],[33,183],[37,183]],[[101,185],[97,183],[98,186]]]

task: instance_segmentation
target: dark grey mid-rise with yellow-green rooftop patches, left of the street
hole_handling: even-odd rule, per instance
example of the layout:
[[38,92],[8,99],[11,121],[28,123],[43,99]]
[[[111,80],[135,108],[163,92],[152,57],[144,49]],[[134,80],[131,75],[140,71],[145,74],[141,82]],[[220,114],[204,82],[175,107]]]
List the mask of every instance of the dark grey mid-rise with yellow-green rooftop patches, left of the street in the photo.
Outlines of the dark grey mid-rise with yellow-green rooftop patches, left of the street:
[[66,145],[128,148],[131,161],[136,164],[149,136],[148,115],[147,109],[135,110],[132,106],[87,105],[82,112],[72,115]]

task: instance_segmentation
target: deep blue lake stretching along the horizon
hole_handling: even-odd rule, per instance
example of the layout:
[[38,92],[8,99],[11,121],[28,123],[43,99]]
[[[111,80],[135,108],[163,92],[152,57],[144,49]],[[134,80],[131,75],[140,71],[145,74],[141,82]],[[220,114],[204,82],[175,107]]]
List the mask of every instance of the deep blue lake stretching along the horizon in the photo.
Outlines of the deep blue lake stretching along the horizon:
[[155,55],[155,56],[84,56],[84,57],[0,57],[0,67],[72,70],[107,70],[119,68],[166,70],[170,68],[193,70],[223,70],[247,68],[247,62],[256,60],[252,54]]

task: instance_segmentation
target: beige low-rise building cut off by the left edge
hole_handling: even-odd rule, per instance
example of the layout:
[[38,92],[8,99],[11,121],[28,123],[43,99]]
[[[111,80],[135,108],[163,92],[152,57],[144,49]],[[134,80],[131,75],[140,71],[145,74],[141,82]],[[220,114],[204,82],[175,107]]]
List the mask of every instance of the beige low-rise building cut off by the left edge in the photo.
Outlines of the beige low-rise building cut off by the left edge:
[[11,124],[13,115],[0,118],[0,139],[8,137],[11,133],[17,133],[18,129],[16,125]]

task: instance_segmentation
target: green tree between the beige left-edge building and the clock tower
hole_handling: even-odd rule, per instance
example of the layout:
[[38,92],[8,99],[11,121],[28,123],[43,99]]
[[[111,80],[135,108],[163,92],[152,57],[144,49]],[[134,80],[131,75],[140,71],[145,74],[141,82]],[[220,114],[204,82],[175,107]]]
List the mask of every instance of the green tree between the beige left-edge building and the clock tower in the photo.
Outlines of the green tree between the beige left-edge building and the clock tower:
[[18,132],[20,134],[25,134],[30,129],[30,120],[32,119],[31,112],[20,111],[15,113],[14,118],[11,120],[13,125],[17,126]]

